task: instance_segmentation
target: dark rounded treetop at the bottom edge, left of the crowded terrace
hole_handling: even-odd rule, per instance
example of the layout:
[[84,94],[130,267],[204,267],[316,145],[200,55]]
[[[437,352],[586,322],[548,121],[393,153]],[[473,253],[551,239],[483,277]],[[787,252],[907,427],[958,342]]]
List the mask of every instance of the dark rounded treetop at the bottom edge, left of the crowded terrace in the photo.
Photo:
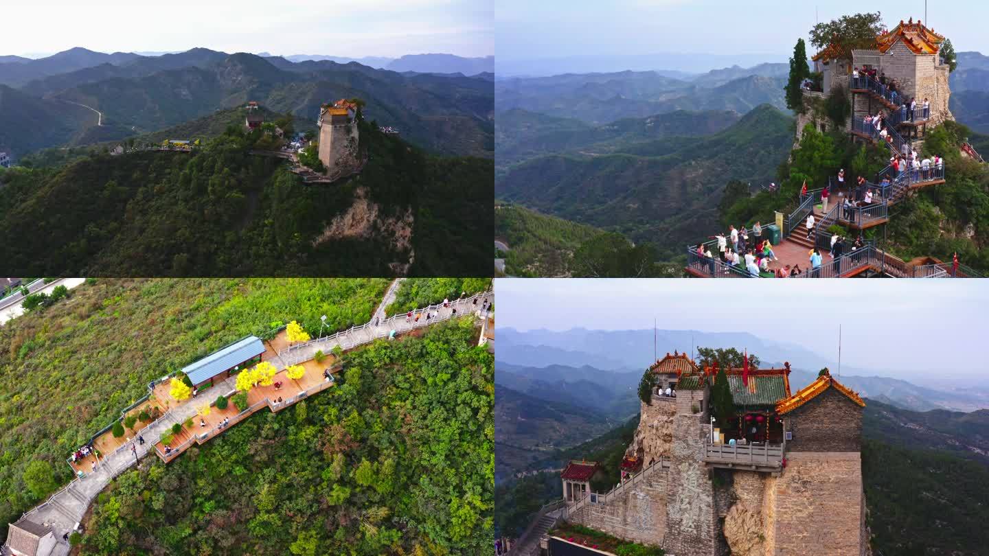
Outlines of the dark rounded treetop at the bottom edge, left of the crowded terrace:
[[577,278],[643,278],[656,273],[652,244],[632,244],[620,233],[601,233],[574,252],[573,275]]

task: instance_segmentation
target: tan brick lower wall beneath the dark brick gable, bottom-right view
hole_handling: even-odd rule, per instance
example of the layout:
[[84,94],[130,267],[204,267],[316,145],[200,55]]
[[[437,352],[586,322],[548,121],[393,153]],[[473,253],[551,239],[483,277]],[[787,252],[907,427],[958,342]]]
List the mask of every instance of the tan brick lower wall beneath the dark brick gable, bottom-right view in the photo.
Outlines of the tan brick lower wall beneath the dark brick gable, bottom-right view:
[[865,553],[858,452],[790,452],[786,469],[766,488],[774,496],[767,554]]

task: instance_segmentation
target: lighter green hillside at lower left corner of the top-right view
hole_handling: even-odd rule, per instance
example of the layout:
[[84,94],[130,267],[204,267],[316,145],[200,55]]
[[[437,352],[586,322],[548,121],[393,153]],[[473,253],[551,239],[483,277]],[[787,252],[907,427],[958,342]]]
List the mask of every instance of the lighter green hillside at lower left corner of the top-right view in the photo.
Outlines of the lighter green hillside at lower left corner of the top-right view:
[[509,276],[568,276],[574,251],[600,233],[518,205],[499,204],[494,210],[494,236],[508,246],[497,255]]

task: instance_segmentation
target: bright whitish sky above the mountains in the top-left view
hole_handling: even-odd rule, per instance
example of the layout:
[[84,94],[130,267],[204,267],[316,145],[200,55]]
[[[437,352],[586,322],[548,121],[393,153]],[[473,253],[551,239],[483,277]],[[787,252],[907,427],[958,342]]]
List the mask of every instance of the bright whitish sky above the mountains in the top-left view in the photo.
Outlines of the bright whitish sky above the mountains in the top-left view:
[[3,3],[0,54],[186,50],[494,54],[492,0],[94,0]]

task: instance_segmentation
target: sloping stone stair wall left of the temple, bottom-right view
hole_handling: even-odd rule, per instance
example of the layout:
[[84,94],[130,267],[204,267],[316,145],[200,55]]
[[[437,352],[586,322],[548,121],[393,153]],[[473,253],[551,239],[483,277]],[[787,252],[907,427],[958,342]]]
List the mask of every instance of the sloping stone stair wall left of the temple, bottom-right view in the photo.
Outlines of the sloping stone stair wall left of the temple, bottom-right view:
[[619,538],[661,546],[667,528],[669,475],[669,470],[655,469],[641,484],[607,504],[587,504],[570,520]]

